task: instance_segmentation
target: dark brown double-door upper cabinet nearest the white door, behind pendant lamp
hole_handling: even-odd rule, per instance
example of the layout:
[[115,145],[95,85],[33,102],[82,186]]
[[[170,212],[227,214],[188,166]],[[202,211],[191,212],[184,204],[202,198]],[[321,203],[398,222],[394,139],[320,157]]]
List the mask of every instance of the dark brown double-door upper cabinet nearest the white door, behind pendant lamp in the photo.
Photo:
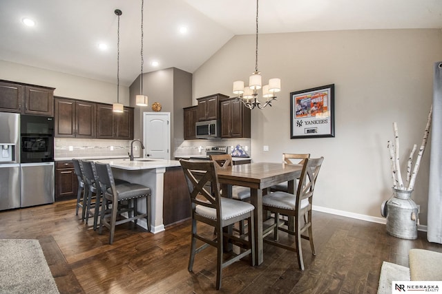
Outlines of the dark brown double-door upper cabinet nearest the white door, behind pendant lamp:
[[97,103],[97,138],[133,139],[133,108],[124,107],[124,112],[116,114],[112,105]]

